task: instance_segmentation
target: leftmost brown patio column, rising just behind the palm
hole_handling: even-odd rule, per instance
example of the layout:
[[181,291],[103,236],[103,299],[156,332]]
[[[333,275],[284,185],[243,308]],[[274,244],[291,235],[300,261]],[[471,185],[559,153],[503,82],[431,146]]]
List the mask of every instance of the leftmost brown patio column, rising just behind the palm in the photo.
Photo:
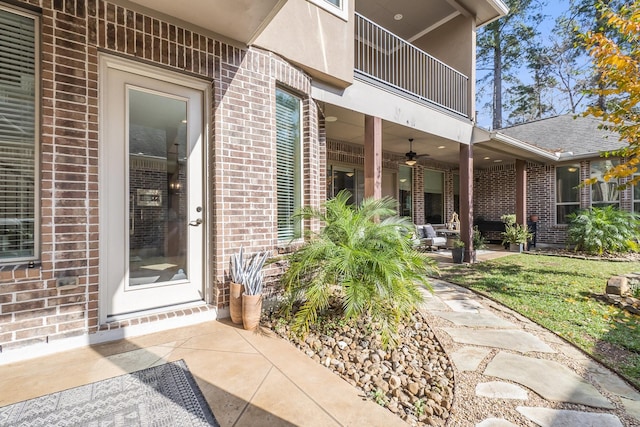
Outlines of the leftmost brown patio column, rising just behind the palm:
[[364,116],[364,196],[382,198],[382,119]]

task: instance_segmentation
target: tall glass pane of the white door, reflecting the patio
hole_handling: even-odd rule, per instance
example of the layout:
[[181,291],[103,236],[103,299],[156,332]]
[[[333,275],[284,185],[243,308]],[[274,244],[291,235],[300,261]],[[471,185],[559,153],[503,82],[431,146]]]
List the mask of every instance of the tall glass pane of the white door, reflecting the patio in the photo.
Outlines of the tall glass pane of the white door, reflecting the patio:
[[187,102],[128,95],[129,286],[186,280]]

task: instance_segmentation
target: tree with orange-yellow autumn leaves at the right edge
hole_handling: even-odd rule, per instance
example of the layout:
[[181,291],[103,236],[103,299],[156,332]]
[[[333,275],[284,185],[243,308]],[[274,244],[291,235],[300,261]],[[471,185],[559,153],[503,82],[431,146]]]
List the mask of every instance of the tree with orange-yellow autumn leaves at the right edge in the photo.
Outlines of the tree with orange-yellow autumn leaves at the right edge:
[[[604,178],[632,177],[640,163],[640,0],[622,6],[615,12],[600,3],[602,18],[607,26],[615,29],[617,40],[602,31],[589,31],[582,35],[600,85],[592,92],[598,97],[609,98],[606,104],[596,103],[585,115],[602,119],[601,127],[616,132],[626,147],[609,151],[606,156],[620,156],[622,161],[607,171]],[[592,180],[587,180],[591,184]],[[640,181],[640,176],[626,185]]]

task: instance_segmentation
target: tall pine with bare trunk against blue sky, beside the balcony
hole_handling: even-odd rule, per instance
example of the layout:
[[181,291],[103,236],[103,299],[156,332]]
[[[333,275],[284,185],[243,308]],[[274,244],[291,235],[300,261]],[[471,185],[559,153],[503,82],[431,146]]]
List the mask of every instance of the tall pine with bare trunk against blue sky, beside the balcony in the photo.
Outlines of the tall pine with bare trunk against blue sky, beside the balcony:
[[514,78],[525,42],[534,40],[542,21],[537,0],[508,0],[509,14],[484,26],[478,33],[478,69],[487,71],[480,83],[491,82],[493,129],[502,127],[503,81]]

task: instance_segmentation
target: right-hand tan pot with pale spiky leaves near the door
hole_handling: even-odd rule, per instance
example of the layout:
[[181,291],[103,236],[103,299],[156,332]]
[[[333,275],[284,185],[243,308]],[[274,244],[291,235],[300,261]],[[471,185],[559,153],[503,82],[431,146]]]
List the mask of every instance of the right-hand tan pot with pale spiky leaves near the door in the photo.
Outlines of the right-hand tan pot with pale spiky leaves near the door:
[[244,268],[242,294],[242,324],[245,329],[253,330],[260,323],[262,313],[262,288],[264,266],[269,252],[255,254]]

